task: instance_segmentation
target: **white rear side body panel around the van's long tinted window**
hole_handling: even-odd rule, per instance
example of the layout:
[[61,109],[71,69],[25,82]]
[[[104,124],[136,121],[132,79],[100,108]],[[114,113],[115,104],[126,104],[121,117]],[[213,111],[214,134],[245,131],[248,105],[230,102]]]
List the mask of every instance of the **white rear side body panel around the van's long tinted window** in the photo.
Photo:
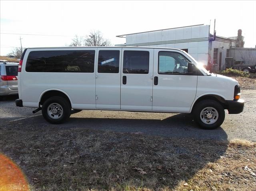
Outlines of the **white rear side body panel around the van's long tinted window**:
[[[69,95],[72,108],[95,109],[95,67],[94,73],[55,73],[55,72],[26,72],[26,59],[31,51],[54,51],[54,48],[27,49],[22,65],[22,80],[20,83],[23,106],[38,107],[39,97],[43,92],[51,89],[59,89]],[[60,48],[58,50],[67,50]],[[72,48],[81,50],[81,48]],[[97,48],[83,48],[82,50],[94,50]],[[34,102],[34,104],[32,104]]]

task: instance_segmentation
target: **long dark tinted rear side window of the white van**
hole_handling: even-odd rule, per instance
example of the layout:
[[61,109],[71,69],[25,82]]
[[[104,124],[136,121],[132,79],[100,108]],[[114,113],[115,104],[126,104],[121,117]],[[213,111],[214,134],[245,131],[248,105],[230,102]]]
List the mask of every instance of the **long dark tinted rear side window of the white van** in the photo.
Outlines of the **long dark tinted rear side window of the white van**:
[[94,50],[31,51],[27,72],[94,72]]

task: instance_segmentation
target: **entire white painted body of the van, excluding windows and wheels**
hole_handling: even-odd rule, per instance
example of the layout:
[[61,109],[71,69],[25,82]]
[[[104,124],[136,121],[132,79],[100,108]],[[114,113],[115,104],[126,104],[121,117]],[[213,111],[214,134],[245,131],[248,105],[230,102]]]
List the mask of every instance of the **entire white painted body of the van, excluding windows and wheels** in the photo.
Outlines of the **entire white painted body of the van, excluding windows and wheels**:
[[[31,51],[94,50],[94,73],[26,72],[26,61]],[[98,52],[120,50],[119,73],[98,73]],[[125,50],[149,51],[148,74],[123,73]],[[125,110],[143,112],[192,111],[198,98],[217,95],[224,100],[233,100],[234,87],[238,82],[222,75],[159,75],[158,52],[176,51],[187,57],[194,65],[198,63],[184,51],[153,47],[63,47],[28,48],[24,55],[21,72],[18,73],[19,98],[23,106],[39,107],[42,95],[57,90],[68,96],[73,109]],[[122,83],[122,77],[127,83]],[[154,85],[154,77],[158,85]]]

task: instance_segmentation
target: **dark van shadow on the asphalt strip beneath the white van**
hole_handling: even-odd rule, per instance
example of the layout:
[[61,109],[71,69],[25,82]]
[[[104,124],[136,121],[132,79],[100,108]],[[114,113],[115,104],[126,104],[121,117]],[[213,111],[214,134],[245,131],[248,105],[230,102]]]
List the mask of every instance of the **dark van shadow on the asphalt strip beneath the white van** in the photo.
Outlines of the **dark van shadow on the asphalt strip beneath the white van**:
[[224,130],[201,129],[194,122],[191,114],[176,114],[158,119],[124,119],[124,118],[70,118],[62,127],[84,127],[95,130],[109,130],[115,132],[137,132],[145,135],[227,140]]

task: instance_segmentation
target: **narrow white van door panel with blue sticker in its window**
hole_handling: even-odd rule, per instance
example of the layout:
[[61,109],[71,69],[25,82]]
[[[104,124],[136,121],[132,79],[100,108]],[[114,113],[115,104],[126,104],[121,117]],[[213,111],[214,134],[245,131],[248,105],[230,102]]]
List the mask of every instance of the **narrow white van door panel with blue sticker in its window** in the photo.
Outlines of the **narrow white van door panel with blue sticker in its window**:
[[122,48],[98,48],[96,59],[96,108],[120,109]]

